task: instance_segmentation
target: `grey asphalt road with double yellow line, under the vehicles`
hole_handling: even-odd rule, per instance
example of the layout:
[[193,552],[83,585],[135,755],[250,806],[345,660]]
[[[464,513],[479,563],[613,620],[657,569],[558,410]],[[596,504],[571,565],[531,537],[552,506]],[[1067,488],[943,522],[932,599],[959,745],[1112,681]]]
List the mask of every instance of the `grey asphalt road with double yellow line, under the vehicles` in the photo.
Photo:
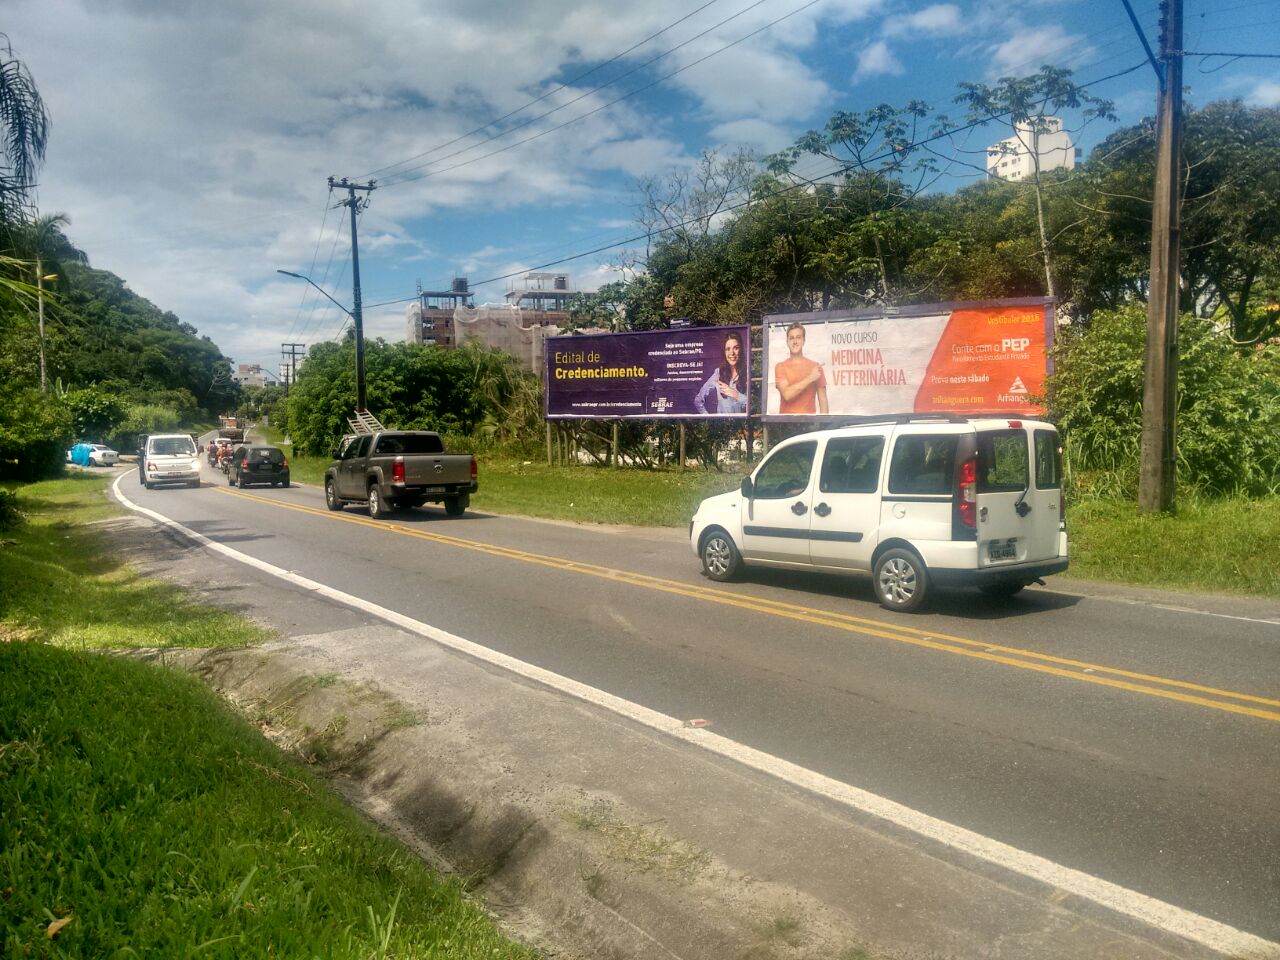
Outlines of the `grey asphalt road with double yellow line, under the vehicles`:
[[[1280,940],[1280,604],[704,580],[678,532],[319,488],[143,490],[205,536],[916,810]],[[1052,588],[1052,585],[1051,585]],[[1167,598],[1161,598],[1167,599]],[[1211,605],[1206,602],[1202,605]]]

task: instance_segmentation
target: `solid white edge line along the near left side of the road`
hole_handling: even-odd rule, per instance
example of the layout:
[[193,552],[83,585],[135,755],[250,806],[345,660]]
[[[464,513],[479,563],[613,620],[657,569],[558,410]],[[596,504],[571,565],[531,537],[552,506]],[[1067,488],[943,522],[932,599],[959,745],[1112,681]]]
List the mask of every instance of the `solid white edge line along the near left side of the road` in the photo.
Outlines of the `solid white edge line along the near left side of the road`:
[[686,727],[684,721],[676,719],[675,717],[668,717],[663,713],[658,713],[657,710],[650,710],[648,707],[641,707],[640,704],[631,703],[630,700],[623,700],[620,696],[607,694],[603,690],[596,690],[595,687],[580,684],[576,680],[562,677],[558,673],[552,673],[541,667],[535,667],[531,663],[518,660],[515,657],[508,657],[507,654],[490,650],[486,646],[476,644],[471,640],[465,640],[461,636],[449,634],[439,627],[433,627],[429,623],[422,623],[412,617],[406,617],[404,614],[397,613],[387,607],[380,607],[375,603],[370,603],[369,600],[343,593],[342,590],[335,590],[332,586],[326,586],[315,580],[293,573],[292,571],[278,567],[274,563],[268,563],[266,561],[260,561],[256,557],[250,557],[246,553],[241,553],[230,547],[210,540],[207,536],[198,534],[195,530],[170,520],[169,517],[133,503],[119,489],[120,480],[123,480],[124,476],[125,475],[122,474],[113,485],[114,493],[120,503],[137,513],[151,517],[156,522],[163,524],[172,530],[177,530],[214,553],[220,553],[224,557],[229,557],[230,559],[238,561],[256,570],[261,570],[265,573],[279,577],[280,580],[300,586],[303,590],[311,590],[320,596],[325,596],[337,603],[369,613],[379,620],[387,621],[388,623],[393,623],[402,630],[434,640],[442,646],[458,650],[460,653],[463,653],[474,659],[483,660],[494,667],[516,673],[526,680],[532,680],[543,686],[550,687],[552,690],[568,694],[570,696],[575,696],[585,703],[609,710],[620,717],[626,717],[627,719],[649,727],[650,730],[655,730],[659,733],[675,737],[676,740],[682,740],[686,744],[709,750],[713,754],[737,760],[742,765],[750,767],[760,773],[765,773],[850,809],[878,817],[879,819],[887,820],[897,827],[918,833],[922,837],[943,844],[955,850],[960,850],[970,856],[977,856],[980,860],[986,860],[987,863],[1011,870],[1012,873],[1029,877],[1030,879],[1046,883],[1066,893],[1083,897],[1084,900],[1089,900],[1107,908],[1108,910],[1114,910],[1117,914],[1146,923],[1164,931],[1165,933],[1171,933],[1194,943],[1199,943],[1201,946],[1225,956],[1249,957],[1249,960],[1280,960],[1280,943],[1263,940],[1262,937],[1247,933],[1245,931],[1239,931],[1207,916],[1201,916],[1190,910],[1184,910],[1180,906],[1166,904],[1161,900],[1156,900],[1155,897],[1148,897],[1144,893],[1139,893],[1116,883],[1111,883],[1110,881],[1093,877],[1083,870],[1062,867],[1052,860],[1037,856],[1036,854],[1029,854],[1024,850],[1019,850],[1018,847],[1002,844],[998,840],[992,840],[991,837],[965,829],[964,827],[947,823],[946,820],[940,820],[936,817],[929,817],[928,814],[913,810],[909,806],[904,806],[902,804],[878,796],[877,794],[824,777],[820,773],[805,769],[804,767],[772,756],[771,754],[755,750],[750,746],[744,746],[742,744],[730,740],[728,737],[712,733],[705,727]]

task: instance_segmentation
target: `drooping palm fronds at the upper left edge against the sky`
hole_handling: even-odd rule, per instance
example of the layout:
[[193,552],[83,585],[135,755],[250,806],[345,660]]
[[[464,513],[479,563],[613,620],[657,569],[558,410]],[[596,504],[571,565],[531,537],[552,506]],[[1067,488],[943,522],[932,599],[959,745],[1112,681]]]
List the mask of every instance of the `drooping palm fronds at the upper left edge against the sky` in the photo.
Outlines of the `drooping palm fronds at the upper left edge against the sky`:
[[31,73],[0,33],[0,223],[13,223],[49,143],[49,111]]

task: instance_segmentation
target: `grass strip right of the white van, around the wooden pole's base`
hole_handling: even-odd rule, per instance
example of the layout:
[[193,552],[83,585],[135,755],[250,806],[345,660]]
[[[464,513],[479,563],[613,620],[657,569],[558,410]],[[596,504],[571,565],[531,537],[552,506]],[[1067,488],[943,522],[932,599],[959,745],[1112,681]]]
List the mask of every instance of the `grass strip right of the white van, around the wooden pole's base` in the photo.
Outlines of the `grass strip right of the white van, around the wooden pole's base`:
[[1138,516],[1130,500],[1068,507],[1071,576],[1280,598],[1280,498],[1180,500]]

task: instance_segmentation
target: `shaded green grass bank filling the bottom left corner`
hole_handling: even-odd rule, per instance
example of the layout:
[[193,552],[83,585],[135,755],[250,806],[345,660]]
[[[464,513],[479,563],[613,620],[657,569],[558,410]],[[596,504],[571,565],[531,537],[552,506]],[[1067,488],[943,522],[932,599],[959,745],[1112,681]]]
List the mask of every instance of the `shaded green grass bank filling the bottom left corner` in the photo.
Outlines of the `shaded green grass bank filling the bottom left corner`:
[[534,956],[177,671],[0,644],[0,809],[4,956]]

